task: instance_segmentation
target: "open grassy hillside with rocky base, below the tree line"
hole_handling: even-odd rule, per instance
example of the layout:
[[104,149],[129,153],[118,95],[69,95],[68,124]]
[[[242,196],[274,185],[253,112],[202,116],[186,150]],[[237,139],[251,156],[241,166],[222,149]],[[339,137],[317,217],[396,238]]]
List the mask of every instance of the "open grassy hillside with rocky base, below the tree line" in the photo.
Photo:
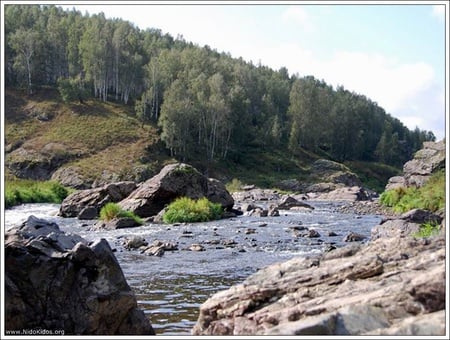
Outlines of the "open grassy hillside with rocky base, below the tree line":
[[[155,124],[142,124],[129,105],[95,99],[66,104],[58,91],[43,88],[32,96],[7,89],[5,108],[7,181],[55,179],[78,189],[119,180],[140,182],[178,160],[161,142]],[[288,179],[310,181],[311,164],[319,158],[327,155],[299,149],[292,157],[276,147],[249,146],[235,160],[191,163],[225,183],[237,178],[277,187]],[[347,165],[376,190],[398,172],[378,163]]]

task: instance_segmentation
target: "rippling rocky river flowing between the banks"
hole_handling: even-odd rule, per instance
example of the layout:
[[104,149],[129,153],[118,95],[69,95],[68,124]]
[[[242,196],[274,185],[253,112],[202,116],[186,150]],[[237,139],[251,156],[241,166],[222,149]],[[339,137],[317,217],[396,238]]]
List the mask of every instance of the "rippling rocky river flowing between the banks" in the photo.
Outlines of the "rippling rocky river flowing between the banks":
[[[5,227],[17,225],[29,215],[56,222],[61,230],[94,240],[105,238],[115,249],[124,275],[157,335],[190,335],[200,305],[212,294],[242,282],[258,269],[294,256],[320,253],[330,244],[343,246],[350,231],[370,237],[380,216],[342,214],[338,203],[309,202],[312,211],[281,211],[278,217],[240,216],[195,224],[147,224],[137,228],[93,231],[96,221],[57,216],[59,205],[26,204],[5,211]],[[307,227],[319,238],[295,236],[293,228]],[[338,236],[328,236],[334,232]],[[140,235],[178,244],[176,251],[148,256],[125,250],[124,238]],[[205,251],[185,248],[198,243]]]

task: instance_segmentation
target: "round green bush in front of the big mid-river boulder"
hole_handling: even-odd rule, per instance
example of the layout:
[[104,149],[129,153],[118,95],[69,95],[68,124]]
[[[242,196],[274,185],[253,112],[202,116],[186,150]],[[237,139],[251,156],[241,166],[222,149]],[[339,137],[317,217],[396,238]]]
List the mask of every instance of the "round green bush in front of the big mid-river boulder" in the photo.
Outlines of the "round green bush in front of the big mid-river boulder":
[[222,213],[222,206],[210,202],[206,197],[199,200],[181,197],[167,207],[163,215],[163,221],[165,223],[206,222],[221,218]]

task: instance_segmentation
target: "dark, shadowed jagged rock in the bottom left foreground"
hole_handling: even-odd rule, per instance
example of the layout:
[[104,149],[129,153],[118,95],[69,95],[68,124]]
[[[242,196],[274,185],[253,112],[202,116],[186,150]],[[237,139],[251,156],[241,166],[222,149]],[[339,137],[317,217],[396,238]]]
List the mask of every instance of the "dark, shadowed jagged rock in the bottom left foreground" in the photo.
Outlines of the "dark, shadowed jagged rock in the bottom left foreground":
[[106,240],[30,216],[5,233],[5,329],[153,335]]

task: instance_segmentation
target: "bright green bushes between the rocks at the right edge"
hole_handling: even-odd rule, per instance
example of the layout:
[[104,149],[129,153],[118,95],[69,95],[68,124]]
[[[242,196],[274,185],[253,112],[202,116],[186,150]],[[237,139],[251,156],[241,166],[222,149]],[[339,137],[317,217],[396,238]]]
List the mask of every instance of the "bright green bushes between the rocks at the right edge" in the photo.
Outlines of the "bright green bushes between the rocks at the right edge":
[[445,207],[445,171],[433,174],[421,188],[396,188],[381,194],[380,202],[395,212],[411,209],[437,211]]

